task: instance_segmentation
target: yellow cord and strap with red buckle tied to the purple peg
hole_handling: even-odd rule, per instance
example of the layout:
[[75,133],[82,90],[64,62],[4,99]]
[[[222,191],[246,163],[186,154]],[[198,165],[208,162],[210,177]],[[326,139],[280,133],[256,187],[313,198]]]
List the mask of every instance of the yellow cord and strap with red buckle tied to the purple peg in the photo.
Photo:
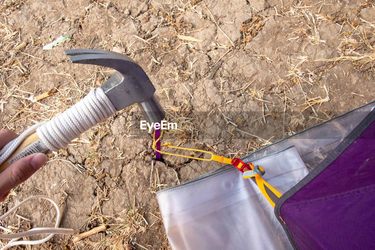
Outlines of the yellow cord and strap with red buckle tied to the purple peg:
[[[156,149],[156,143],[160,141],[160,139],[162,138],[162,136],[163,136],[163,131],[161,131],[160,137],[157,140],[155,140],[155,133],[153,135],[152,148],[156,152],[159,152],[160,154],[180,156],[180,157],[185,157],[185,158],[190,158],[190,159],[200,160],[200,161],[218,161],[220,163],[232,164],[237,169],[239,169],[242,173],[244,173],[243,179],[248,179],[248,178],[255,177],[255,181],[256,181],[256,183],[257,183],[260,191],[262,192],[262,194],[266,197],[266,199],[270,202],[270,204],[273,207],[275,207],[275,203],[272,201],[272,199],[268,195],[268,193],[267,193],[266,189],[264,188],[264,186],[266,186],[267,188],[269,188],[269,190],[272,191],[277,197],[279,197],[279,198],[281,197],[281,193],[279,193],[279,191],[277,191],[270,184],[268,184],[266,181],[264,181],[264,179],[257,172],[254,171],[254,164],[252,164],[252,163],[249,163],[249,164],[243,163],[243,161],[241,161],[238,158],[229,159],[229,158],[226,158],[224,156],[214,155],[211,152],[208,152],[208,151],[205,151],[205,150],[201,150],[201,149],[182,148],[182,147],[172,146],[172,144],[169,143],[169,142],[161,144],[160,146],[161,147],[166,147],[166,148],[175,148],[175,149],[182,149],[182,150],[190,150],[190,151],[207,153],[207,154],[211,155],[211,158],[210,159],[204,159],[204,158],[198,158],[198,157],[193,157],[193,156],[188,156],[188,155],[180,155],[180,154],[173,154],[173,153],[169,153],[169,152],[160,151],[160,150]],[[258,170],[260,172],[264,172],[264,169],[262,167],[257,166],[257,168],[258,168]],[[245,169],[251,169],[251,170],[245,171]]]

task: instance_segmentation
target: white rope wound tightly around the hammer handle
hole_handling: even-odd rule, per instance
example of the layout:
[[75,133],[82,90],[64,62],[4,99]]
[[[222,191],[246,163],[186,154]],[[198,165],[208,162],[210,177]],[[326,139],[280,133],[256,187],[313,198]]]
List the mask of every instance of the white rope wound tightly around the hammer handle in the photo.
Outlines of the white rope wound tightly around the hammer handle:
[[93,88],[81,101],[36,129],[51,151],[68,147],[74,138],[116,112],[101,88]]

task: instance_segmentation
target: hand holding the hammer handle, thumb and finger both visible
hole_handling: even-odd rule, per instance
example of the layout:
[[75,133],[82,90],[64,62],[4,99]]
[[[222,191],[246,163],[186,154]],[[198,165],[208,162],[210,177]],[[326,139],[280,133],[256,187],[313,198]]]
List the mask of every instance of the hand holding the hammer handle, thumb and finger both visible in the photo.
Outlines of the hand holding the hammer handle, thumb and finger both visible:
[[[8,142],[17,138],[18,134],[10,130],[0,130],[0,149]],[[47,156],[42,153],[35,153],[21,158],[10,164],[0,173],[0,202],[5,201],[10,190],[26,181],[36,170],[40,169],[47,161]]]

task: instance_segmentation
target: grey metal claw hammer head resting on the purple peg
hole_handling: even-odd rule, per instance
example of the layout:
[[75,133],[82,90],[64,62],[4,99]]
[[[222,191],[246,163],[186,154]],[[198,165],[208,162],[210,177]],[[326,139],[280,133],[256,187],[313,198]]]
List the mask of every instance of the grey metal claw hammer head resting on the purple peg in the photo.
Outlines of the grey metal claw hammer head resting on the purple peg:
[[147,122],[160,122],[165,111],[154,96],[155,88],[141,66],[130,57],[105,50],[65,50],[72,63],[104,66],[116,70],[101,88],[117,110],[137,103]]

